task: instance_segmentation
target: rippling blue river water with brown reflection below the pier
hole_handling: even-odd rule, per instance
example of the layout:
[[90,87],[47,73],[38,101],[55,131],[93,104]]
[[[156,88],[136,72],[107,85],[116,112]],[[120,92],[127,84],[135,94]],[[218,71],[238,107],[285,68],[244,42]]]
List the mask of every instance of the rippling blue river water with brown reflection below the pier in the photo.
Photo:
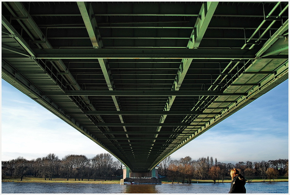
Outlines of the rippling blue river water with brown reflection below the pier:
[[[247,193],[288,193],[288,182],[246,184]],[[2,193],[228,193],[224,184],[65,184],[2,182]]]

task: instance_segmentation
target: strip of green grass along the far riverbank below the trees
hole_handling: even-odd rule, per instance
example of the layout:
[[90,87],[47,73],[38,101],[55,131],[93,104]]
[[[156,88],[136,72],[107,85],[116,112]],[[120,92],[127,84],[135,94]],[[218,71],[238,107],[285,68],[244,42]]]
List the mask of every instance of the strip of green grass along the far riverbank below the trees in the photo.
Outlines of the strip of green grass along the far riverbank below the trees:
[[[172,181],[167,180],[167,178],[162,178],[162,184],[172,184]],[[3,182],[33,182],[33,183],[81,183],[81,184],[120,184],[119,178],[107,178],[105,181],[105,178],[97,178],[96,181],[93,179],[88,180],[87,178],[82,180],[75,180],[75,179],[69,179],[68,181],[65,178],[52,178],[52,180],[44,180],[42,177],[33,177],[33,176],[25,176],[23,177],[22,181],[20,181],[20,178],[13,178],[9,176],[2,176]],[[186,182],[186,181],[185,181]],[[230,183],[230,178],[225,178],[223,183]],[[255,178],[252,180],[252,182],[263,182],[260,178]],[[265,182],[269,182],[269,180],[266,180]],[[271,180],[273,182],[273,180]],[[288,177],[280,176],[277,179],[275,179],[275,182],[288,182]],[[177,181],[174,182],[177,184]],[[181,183],[181,182],[179,182]],[[213,180],[191,180],[191,183],[213,183]],[[216,181],[216,183],[221,183],[221,180],[219,182]]]

